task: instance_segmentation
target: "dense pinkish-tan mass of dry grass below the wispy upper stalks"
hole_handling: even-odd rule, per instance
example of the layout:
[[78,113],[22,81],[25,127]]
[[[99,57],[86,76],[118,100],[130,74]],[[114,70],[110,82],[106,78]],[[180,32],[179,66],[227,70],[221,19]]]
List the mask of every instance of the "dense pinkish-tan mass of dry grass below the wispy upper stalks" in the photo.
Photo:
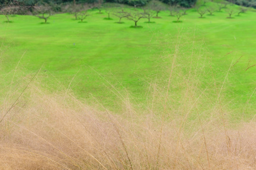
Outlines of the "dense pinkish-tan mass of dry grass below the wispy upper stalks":
[[[1,104],[1,119],[10,105]],[[0,169],[256,169],[254,120],[230,127],[221,116],[189,121],[153,109],[138,115],[129,103],[125,109],[119,116],[97,111],[68,93],[30,85],[1,121]]]

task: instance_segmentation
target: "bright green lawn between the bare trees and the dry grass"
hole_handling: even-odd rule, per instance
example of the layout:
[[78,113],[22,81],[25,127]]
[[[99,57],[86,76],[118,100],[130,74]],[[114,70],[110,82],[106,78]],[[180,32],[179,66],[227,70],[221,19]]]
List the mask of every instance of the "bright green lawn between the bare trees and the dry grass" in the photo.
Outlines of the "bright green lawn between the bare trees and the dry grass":
[[174,23],[176,17],[162,11],[161,18],[152,18],[155,23],[141,19],[142,28],[131,28],[133,21],[125,18],[117,24],[114,16],[105,20],[106,13],[91,13],[84,23],[70,14],[56,14],[49,24],[33,16],[10,17],[12,23],[5,23],[0,16],[0,85],[9,86],[20,60],[17,68],[22,74],[17,77],[34,75],[41,68],[38,77],[51,90],[63,85],[88,102],[101,98],[113,110],[120,95],[129,93],[134,105],[144,107],[152,95],[152,82],[166,89],[175,62],[172,100],[182,98],[183,79],[197,80],[201,89],[209,89],[205,94],[209,97],[215,80],[216,88],[223,89],[224,103],[232,103],[234,117],[242,117],[245,105],[248,111],[243,117],[254,115],[256,67],[248,67],[256,63],[255,12],[229,19],[222,9],[199,18],[195,9],[189,9],[181,23]]

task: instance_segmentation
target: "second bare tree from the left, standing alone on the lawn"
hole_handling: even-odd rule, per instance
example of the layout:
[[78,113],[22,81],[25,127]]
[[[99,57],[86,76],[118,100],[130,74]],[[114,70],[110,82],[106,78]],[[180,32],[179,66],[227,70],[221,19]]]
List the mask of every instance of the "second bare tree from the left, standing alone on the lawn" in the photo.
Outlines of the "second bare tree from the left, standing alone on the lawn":
[[53,15],[53,11],[49,5],[45,4],[44,6],[35,6],[33,15],[44,19],[45,23],[47,23],[47,19]]

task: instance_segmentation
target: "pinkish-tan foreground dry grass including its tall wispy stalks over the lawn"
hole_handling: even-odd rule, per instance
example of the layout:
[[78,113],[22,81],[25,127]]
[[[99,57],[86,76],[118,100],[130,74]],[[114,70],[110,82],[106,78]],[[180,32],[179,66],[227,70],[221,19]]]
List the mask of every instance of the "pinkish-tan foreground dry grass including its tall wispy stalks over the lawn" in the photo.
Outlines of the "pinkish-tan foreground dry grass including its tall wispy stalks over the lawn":
[[[255,116],[243,120],[255,112],[255,90],[237,108],[222,96],[233,63],[219,81],[201,49],[188,63],[179,51],[161,58],[171,64],[149,82],[147,107],[133,106],[106,80],[119,113],[100,97],[95,106],[81,102],[69,86],[42,90],[40,74],[24,77],[18,63],[14,73],[0,75],[10,82],[0,89],[0,170],[256,170]],[[209,74],[212,81],[201,78]]]

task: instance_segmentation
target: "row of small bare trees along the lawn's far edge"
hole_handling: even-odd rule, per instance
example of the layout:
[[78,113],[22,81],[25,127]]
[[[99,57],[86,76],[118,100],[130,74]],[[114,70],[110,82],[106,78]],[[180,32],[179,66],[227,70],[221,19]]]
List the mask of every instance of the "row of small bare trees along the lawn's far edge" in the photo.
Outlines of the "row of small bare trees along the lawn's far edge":
[[[245,7],[240,7],[239,10],[235,10],[234,8],[228,8],[228,3],[221,3],[222,8],[220,8],[220,4],[217,3],[217,6],[210,6],[210,7],[205,7],[204,5],[201,6],[196,6],[195,9],[199,13],[199,17],[202,18],[206,13],[209,13],[210,16],[214,15],[214,12],[221,11],[223,8],[226,9],[226,12],[228,13],[228,18],[231,18],[232,15],[237,13],[239,16],[241,13],[245,13],[247,11],[247,8]],[[21,7],[15,6],[15,5],[8,5],[5,7],[0,8],[0,14],[4,15],[7,18],[6,22],[10,22],[9,16],[11,15],[16,15],[18,11],[20,10]],[[143,10],[140,10],[138,8],[130,8],[128,10],[127,8],[121,7],[106,7],[103,8],[101,3],[97,4],[72,4],[72,5],[66,5],[62,7],[64,12],[68,12],[70,14],[73,14],[75,19],[79,19],[81,22],[84,21],[84,19],[88,16],[90,16],[89,9],[97,9],[98,13],[102,13],[102,10],[104,9],[105,12],[107,13],[107,17],[105,19],[112,19],[111,15],[114,15],[115,17],[119,18],[119,21],[117,23],[122,23],[122,18],[127,18],[129,20],[132,20],[134,22],[134,26],[137,26],[137,23],[141,18],[147,18],[148,23],[152,23],[151,18],[161,18],[159,16],[159,13],[165,8],[162,8],[161,6],[154,4],[151,7],[144,7],[142,8]],[[170,11],[170,16],[176,17],[177,20],[175,22],[180,22],[180,18],[184,15],[187,15],[187,10],[188,8],[180,8],[179,6],[170,6],[169,11]],[[44,19],[44,23],[47,23],[47,19],[51,17],[54,12],[53,12],[53,7],[45,4],[41,6],[35,6],[33,7],[33,11],[30,12],[30,14]]]

